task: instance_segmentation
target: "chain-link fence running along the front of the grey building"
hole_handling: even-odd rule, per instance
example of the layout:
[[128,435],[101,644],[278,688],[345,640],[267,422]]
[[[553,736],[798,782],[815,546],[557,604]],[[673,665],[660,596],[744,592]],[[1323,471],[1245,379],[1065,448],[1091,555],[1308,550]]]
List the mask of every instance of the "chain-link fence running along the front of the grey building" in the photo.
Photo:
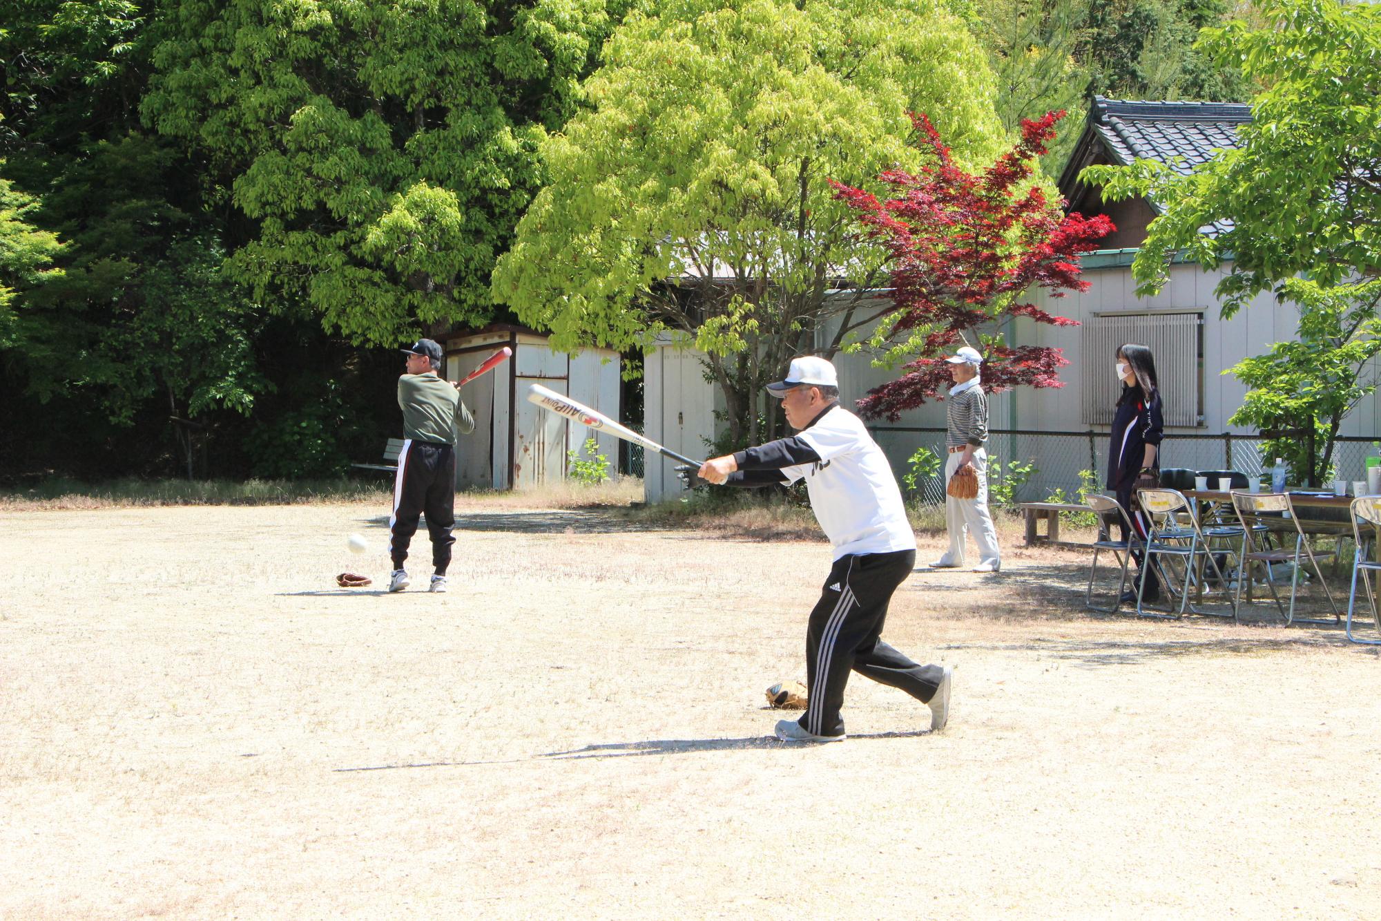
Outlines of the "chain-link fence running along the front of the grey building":
[[[887,454],[898,480],[910,472],[909,459],[920,448],[928,448],[940,461],[940,472],[947,459],[945,429],[876,427],[869,429]],[[1269,476],[1273,458],[1261,456],[1261,436],[1233,434],[1178,434],[1166,436],[1160,447],[1160,466],[1190,470],[1239,470],[1248,477]],[[1381,455],[1377,437],[1340,437],[1333,448],[1337,476],[1345,480],[1366,478],[1366,458]],[[1080,487],[1080,472],[1092,470],[1097,490],[1103,488],[1108,476],[1106,431],[1034,431],[1026,429],[989,429],[987,463],[992,476],[996,465],[1003,472],[1011,463],[1030,463],[1029,478],[1016,487],[1014,502],[1041,502],[1062,490],[1069,501]],[[940,476],[917,484],[921,502],[943,503],[945,484]]]

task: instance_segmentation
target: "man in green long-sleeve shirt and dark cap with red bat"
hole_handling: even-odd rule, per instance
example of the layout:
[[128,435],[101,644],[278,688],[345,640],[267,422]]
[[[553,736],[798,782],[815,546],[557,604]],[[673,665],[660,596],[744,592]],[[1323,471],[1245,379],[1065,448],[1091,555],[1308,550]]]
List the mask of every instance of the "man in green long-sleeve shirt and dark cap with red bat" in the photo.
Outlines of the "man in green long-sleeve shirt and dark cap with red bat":
[[398,405],[403,411],[403,449],[394,478],[394,514],[388,519],[388,553],[394,559],[389,592],[410,585],[403,563],[417,532],[417,519],[427,516],[432,542],[432,592],[446,590],[450,566],[450,530],[456,524],[456,431],[470,434],[475,418],[460,400],[460,386],[441,378],[445,353],[431,339],[403,348],[407,373],[398,379]]

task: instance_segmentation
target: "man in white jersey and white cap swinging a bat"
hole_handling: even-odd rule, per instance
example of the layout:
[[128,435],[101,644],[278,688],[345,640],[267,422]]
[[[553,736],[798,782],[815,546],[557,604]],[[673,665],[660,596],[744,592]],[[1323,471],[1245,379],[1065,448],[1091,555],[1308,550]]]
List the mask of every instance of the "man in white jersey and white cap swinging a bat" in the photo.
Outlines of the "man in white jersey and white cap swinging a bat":
[[882,449],[840,405],[838,376],[824,358],[793,358],[768,384],[800,434],[706,461],[696,474],[714,484],[761,487],[805,478],[811,508],[834,545],[834,566],[805,639],[809,705],[798,722],[776,725],[783,741],[844,738],[849,671],[900,687],[931,708],[931,729],[949,720],[953,669],[917,665],[881,640],[892,593],[916,564],[916,532]]

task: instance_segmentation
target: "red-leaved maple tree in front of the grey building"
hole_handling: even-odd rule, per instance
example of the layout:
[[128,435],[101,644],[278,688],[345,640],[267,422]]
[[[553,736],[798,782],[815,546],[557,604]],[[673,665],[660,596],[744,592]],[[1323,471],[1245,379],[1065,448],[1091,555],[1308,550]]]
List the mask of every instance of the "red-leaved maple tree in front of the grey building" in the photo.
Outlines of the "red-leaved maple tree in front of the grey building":
[[[889,170],[878,181],[892,198],[831,181],[889,256],[892,301],[900,314],[892,337],[927,331],[920,357],[903,365],[902,378],[874,387],[859,400],[869,418],[896,420],[934,398],[952,383],[943,355],[963,344],[983,353],[983,389],[1001,393],[1019,384],[1062,387],[1059,368],[1069,362],[1059,348],[1008,347],[998,335],[982,335],[1007,317],[1029,317],[1039,324],[1077,326],[1023,297],[1036,288],[1052,297],[1087,290],[1079,278],[1079,256],[1097,249],[1113,231],[1103,216],[1065,214],[1063,202],[1051,205],[1039,187],[1029,187],[1036,159],[1055,137],[1063,109],[1040,120],[1022,122],[1022,140],[982,173],[961,170],[950,148],[924,115],[913,115],[918,144],[929,159],[920,176]],[[976,342],[967,343],[972,331]]]

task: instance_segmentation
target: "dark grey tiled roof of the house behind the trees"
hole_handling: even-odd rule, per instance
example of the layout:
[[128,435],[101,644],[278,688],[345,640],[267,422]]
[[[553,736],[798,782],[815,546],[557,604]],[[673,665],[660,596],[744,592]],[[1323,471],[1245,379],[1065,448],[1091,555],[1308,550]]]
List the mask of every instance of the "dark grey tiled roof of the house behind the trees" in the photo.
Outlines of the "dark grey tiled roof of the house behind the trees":
[[[1179,158],[1171,167],[1188,176],[1219,149],[1237,147],[1237,129],[1248,122],[1251,106],[1244,102],[1137,102],[1095,95],[1085,136],[1097,137],[1117,163],[1130,165],[1137,159],[1171,163]],[[1084,140],[1079,148],[1087,151]],[[1076,159],[1084,158],[1077,152],[1072,158],[1061,180],[1062,188],[1072,187],[1066,183],[1077,183],[1077,171],[1091,162],[1076,163]],[[1157,202],[1150,206],[1163,210]],[[1203,230],[1214,234],[1230,227],[1228,221],[1217,221]]]

